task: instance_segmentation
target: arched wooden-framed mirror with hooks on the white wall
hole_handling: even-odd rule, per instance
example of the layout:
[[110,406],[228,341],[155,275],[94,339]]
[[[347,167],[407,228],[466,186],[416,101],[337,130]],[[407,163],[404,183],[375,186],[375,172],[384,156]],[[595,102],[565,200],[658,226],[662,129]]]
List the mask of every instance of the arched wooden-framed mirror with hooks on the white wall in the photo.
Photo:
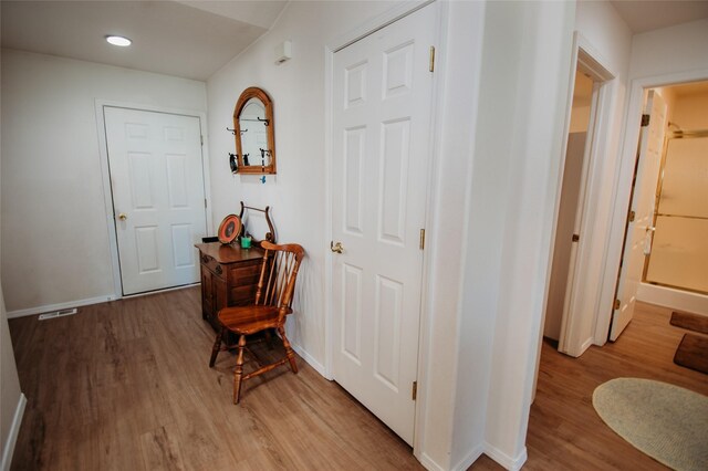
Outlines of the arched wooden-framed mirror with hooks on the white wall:
[[256,86],[246,88],[233,109],[239,174],[275,174],[273,102]]

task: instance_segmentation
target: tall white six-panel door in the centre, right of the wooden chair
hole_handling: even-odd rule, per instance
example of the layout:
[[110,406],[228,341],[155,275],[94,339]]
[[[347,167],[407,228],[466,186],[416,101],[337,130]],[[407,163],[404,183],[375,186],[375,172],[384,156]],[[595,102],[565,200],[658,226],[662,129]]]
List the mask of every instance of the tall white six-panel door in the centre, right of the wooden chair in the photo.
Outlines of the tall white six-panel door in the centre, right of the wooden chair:
[[413,443],[433,4],[334,54],[333,376]]

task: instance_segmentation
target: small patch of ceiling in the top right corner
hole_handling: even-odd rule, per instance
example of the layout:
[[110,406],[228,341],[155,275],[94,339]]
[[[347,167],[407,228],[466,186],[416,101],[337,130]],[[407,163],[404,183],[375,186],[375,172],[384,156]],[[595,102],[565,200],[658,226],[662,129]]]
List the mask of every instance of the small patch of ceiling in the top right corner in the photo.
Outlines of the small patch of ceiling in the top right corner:
[[708,18],[706,0],[611,0],[633,33]]

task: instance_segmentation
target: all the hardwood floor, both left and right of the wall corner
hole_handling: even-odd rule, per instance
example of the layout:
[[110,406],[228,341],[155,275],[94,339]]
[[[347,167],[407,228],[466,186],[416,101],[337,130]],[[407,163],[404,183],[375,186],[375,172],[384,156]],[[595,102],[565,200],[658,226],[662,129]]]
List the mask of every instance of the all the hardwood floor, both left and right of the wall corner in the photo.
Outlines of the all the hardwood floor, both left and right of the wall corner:
[[[593,389],[615,377],[708,394],[708,376],[671,362],[681,329],[639,304],[615,344],[581,358],[544,343],[525,470],[659,470],[610,430]],[[235,358],[207,363],[214,332],[191,287],[10,321],[28,408],[13,470],[402,470],[412,450],[336,384],[299,359],[246,383],[231,405]],[[268,350],[261,347],[261,355]],[[500,470],[481,457],[470,469]]]

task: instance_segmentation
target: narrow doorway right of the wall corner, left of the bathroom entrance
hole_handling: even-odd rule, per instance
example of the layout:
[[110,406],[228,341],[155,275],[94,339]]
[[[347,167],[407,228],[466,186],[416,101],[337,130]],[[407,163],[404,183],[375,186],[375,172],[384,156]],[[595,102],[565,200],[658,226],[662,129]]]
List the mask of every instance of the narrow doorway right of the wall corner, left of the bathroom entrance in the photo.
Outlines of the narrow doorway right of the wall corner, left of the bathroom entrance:
[[[576,35],[573,100],[569,101],[568,142],[556,213],[556,230],[551,259],[551,275],[542,335],[558,342],[558,349],[580,356],[592,344],[587,311],[587,253],[592,245],[590,229],[598,195],[590,190],[597,180],[607,135],[607,84],[614,75],[597,62]],[[595,185],[596,186],[596,185]]]

